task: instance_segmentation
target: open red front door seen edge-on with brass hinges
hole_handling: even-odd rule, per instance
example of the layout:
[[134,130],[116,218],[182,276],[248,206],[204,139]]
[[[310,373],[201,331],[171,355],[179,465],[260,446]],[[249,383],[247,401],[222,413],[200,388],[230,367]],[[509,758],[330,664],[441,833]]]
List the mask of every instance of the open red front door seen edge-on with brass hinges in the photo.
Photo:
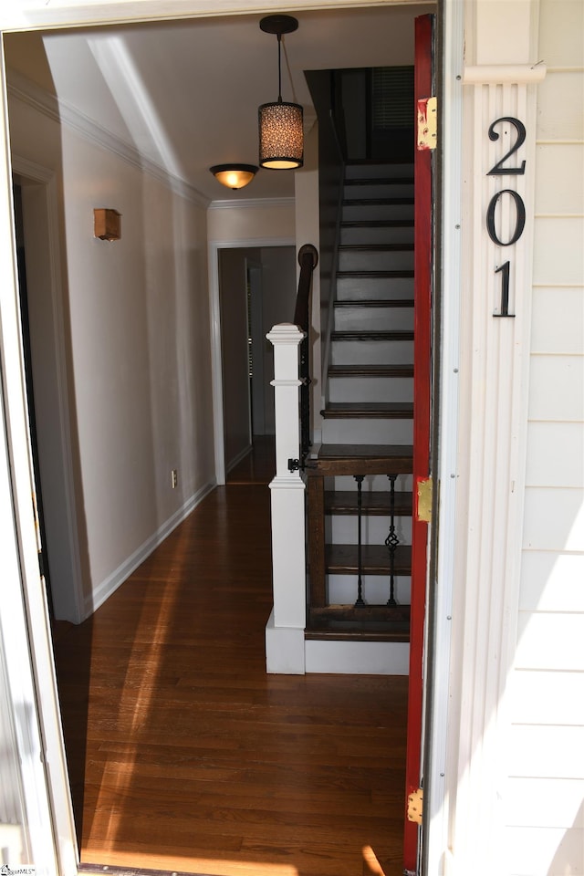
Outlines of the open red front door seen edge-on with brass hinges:
[[[410,688],[406,756],[403,868],[418,872],[422,784],[422,655],[428,560],[430,481],[431,341],[433,292],[433,16],[415,21],[414,96],[418,132],[414,158],[414,353],[413,353],[413,520]],[[427,136],[422,137],[424,130]]]

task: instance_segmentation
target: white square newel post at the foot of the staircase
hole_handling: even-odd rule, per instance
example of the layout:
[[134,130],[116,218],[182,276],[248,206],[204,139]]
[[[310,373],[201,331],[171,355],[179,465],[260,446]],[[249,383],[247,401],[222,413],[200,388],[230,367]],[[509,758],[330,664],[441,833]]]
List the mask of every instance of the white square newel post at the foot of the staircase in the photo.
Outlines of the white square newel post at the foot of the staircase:
[[266,625],[266,671],[304,674],[305,485],[299,472],[288,469],[288,459],[297,459],[299,451],[298,346],[304,332],[284,323],[266,338],[274,345],[276,405],[276,477],[270,484],[274,608]]

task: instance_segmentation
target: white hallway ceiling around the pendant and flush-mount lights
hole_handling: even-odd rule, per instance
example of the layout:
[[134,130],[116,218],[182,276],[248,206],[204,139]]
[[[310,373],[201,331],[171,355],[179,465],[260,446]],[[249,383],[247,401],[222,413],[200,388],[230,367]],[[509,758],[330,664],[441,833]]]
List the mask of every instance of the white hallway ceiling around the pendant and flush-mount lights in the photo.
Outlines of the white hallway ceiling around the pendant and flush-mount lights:
[[[315,114],[303,71],[412,64],[413,18],[432,9],[297,13],[297,31],[283,37],[282,97],[304,106],[305,129]],[[257,107],[277,98],[276,36],[260,17],[8,34],[6,62],[210,200],[289,197],[290,171],[260,171],[238,193],[208,171],[257,163]]]

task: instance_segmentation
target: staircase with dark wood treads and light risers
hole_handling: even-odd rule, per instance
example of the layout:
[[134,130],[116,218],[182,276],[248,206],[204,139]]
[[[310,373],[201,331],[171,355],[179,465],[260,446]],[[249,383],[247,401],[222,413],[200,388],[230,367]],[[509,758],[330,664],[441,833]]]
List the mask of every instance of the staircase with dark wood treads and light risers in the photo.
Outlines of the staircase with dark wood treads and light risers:
[[308,641],[409,641],[412,363],[413,167],[350,165],[322,444],[306,465]]

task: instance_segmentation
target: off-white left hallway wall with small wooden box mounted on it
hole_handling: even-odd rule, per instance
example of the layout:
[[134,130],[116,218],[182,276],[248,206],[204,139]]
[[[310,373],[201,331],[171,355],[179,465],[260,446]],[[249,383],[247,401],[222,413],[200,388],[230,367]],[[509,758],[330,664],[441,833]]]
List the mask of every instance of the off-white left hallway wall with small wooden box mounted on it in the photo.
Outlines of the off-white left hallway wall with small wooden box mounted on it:
[[[214,484],[206,204],[44,110],[13,94],[11,140],[57,177],[86,616]],[[120,241],[93,235],[103,206]]]

